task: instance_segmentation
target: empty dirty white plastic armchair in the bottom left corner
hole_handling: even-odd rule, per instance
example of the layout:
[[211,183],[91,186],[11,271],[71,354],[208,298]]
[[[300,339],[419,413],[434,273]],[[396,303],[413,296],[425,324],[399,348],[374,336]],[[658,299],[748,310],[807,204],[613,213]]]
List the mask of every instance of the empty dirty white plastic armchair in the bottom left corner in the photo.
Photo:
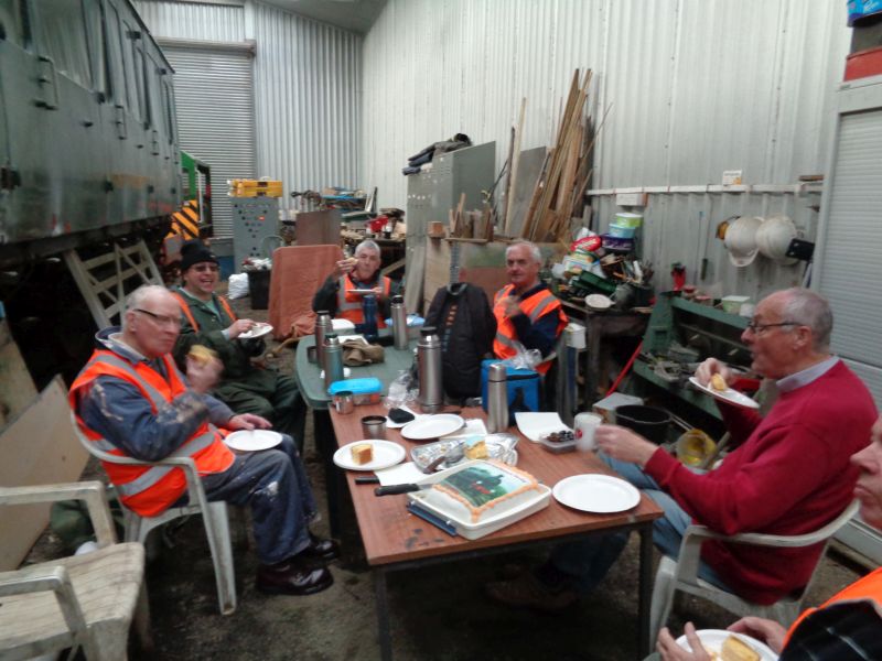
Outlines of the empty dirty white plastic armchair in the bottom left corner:
[[73,648],[87,659],[126,659],[135,619],[151,647],[143,589],[144,548],[116,542],[101,483],[0,487],[0,505],[85,500],[98,550],[0,572],[0,658],[30,659]]

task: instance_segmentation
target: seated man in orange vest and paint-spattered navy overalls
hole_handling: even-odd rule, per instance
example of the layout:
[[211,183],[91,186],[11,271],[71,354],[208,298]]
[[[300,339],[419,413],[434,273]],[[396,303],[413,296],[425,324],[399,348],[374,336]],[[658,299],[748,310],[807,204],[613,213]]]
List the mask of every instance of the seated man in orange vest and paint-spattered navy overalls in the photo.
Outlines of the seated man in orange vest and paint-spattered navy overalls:
[[[189,357],[186,377],[170,351],[181,330],[181,308],[164,288],[147,285],[126,302],[122,327],[100,330],[97,347],[71,386],[71,405],[86,436],[100,449],[155,462],[189,456],[208,500],[251,508],[261,592],[309,595],[333,584],[324,566],[337,546],[309,530],[315,500],[293,441],[280,435],[270,449],[234,455],[224,430],[267,429],[269,421],[234,414],[208,394],[222,365]],[[186,498],[178,468],[105,463],[126,507],[155,516]]]

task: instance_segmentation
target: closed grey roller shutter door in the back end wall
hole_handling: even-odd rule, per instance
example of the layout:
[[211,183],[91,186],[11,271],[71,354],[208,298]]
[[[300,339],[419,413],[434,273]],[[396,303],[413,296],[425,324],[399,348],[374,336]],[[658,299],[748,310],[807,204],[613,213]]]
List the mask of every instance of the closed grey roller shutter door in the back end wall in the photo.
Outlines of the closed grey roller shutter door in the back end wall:
[[227,180],[256,171],[252,54],[238,45],[162,46],[175,71],[181,149],[211,166],[214,236],[232,238]]

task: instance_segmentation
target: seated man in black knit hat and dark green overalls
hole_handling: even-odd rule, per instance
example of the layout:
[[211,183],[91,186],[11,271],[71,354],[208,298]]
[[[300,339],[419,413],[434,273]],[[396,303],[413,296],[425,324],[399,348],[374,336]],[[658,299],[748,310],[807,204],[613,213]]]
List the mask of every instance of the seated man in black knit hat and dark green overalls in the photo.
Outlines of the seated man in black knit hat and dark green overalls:
[[183,311],[174,347],[178,365],[183,368],[193,345],[214,349],[224,376],[212,394],[237,413],[269,420],[276,431],[293,436],[302,451],[306,405],[297,381],[251,362],[263,353],[263,339],[249,338],[255,322],[237,319],[226,299],[214,293],[219,279],[217,258],[202,241],[187,241],[181,249],[182,285],[173,291]]

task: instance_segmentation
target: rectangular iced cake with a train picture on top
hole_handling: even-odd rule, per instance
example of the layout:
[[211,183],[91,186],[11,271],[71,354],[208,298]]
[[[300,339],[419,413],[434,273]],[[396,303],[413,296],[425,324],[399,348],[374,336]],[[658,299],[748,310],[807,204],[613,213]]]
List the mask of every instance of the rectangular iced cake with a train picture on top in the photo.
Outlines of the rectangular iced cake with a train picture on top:
[[542,488],[529,473],[494,460],[458,466],[420,500],[454,519],[480,523],[541,498]]

